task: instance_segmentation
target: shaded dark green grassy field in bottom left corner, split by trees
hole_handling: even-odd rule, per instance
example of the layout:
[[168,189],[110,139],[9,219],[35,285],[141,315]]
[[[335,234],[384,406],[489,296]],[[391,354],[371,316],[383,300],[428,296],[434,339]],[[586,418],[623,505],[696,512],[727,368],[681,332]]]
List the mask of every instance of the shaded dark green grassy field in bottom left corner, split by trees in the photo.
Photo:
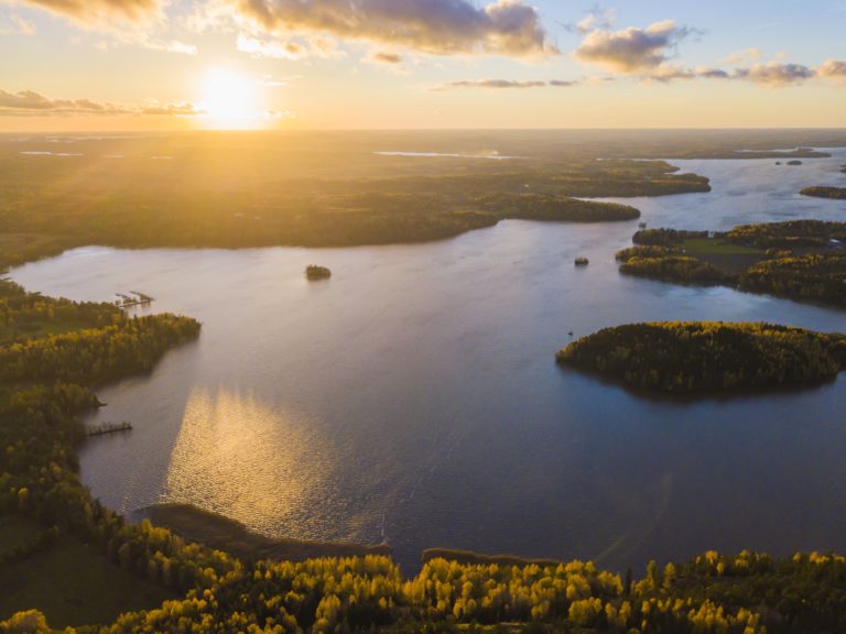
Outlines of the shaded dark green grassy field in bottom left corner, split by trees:
[[[0,548],[25,544],[43,527],[0,518]],[[0,566],[0,620],[39,609],[53,627],[112,622],[130,610],[160,605],[173,593],[109,564],[94,548],[63,537],[45,553]]]

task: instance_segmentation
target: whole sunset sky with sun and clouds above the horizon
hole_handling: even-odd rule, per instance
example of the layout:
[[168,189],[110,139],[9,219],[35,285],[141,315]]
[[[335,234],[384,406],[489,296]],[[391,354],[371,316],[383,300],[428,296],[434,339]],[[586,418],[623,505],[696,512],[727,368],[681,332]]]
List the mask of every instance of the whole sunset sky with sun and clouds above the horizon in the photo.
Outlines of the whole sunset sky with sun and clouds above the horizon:
[[846,127],[846,0],[0,0],[0,132]]

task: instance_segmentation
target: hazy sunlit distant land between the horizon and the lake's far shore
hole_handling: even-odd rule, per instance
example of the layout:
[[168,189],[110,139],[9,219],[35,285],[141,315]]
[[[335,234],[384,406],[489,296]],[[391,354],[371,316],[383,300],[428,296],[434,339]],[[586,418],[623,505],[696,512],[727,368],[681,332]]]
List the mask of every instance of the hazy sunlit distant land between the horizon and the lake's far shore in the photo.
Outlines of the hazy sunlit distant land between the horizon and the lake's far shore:
[[[576,199],[709,192],[674,158],[846,146],[846,133],[826,130],[186,133],[68,138],[73,156],[57,157],[55,140],[0,135],[0,266],[87,244],[348,247],[509,218],[626,220],[631,208]],[[510,158],[460,157],[468,146]],[[403,151],[454,156],[386,155]]]

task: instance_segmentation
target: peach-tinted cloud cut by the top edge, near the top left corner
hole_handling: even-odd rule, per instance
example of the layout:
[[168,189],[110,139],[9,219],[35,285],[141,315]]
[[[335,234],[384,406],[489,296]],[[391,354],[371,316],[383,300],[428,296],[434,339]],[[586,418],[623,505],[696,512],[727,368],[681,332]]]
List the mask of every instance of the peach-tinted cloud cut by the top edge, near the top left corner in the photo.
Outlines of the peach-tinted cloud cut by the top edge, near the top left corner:
[[20,4],[45,9],[86,25],[141,23],[164,15],[165,0],[19,0]]

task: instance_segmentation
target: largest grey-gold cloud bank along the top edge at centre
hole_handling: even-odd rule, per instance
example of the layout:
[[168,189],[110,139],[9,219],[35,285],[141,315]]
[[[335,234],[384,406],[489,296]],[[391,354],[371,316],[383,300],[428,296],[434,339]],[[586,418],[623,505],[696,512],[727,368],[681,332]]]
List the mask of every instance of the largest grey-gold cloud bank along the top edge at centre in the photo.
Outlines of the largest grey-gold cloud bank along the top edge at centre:
[[[280,34],[322,34],[435,55],[557,54],[522,0],[218,0],[236,20]],[[219,9],[217,10],[219,14]]]

